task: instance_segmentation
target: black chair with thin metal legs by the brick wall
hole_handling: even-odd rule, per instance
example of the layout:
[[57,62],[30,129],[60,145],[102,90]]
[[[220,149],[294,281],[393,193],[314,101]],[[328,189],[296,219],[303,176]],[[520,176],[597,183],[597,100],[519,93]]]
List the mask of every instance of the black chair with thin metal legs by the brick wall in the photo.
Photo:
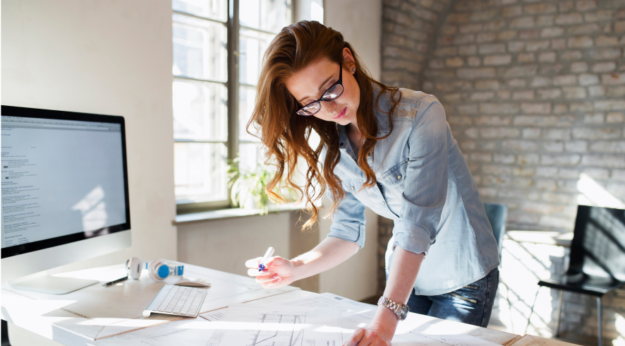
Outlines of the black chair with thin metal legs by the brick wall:
[[[558,290],[555,336],[559,336],[564,291],[590,294],[597,297],[599,346],[602,346],[601,297],[624,284],[625,210],[579,205],[571,242],[569,270],[561,278],[538,282],[540,287]],[[533,311],[532,305],[530,317]],[[528,317],[528,326],[529,323]]]

